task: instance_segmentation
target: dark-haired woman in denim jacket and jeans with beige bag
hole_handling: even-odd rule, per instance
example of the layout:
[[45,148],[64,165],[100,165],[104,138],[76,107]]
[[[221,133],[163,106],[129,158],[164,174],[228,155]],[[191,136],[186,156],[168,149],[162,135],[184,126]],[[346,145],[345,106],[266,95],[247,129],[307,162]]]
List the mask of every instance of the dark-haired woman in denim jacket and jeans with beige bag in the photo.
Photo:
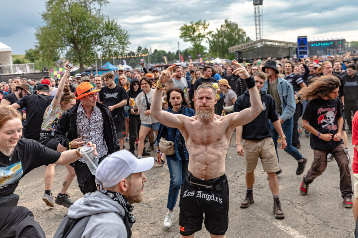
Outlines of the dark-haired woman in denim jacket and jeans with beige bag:
[[[173,114],[182,114],[189,117],[195,115],[195,111],[189,108],[188,101],[185,99],[185,93],[181,88],[170,88],[166,94],[168,99],[168,110],[166,110],[167,112]],[[161,162],[161,152],[159,147],[159,142],[162,137],[164,137],[167,141],[174,142],[174,154],[166,155],[166,161],[168,163],[170,174],[170,185],[168,202],[166,205],[166,208],[168,208],[168,213],[164,219],[164,226],[171,227],[174,214],[173,209],[176,204],[176,199],[178,198],[179,190],[182,187],[184,179],[188,174],[189,153],[185,147],[185,141],[180,131],[177,128],[167,127],[163,124],[160,124],[157,141],[155,143],[155,145],[158,146],[157,159],[159,164],[163,163]]]

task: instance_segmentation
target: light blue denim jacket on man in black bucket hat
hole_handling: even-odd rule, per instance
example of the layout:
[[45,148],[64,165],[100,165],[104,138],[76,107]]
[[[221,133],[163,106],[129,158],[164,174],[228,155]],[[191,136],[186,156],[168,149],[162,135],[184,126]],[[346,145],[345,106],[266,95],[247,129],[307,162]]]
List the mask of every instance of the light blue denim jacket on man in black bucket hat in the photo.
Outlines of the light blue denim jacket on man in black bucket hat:
[[[295,101],[295,92],[293,91],[293,87],[291,83],[285,79],[277,78],[279,83],[277,83],[277,91],[280,95],[280,100],[282,103],[282,114],[280,118],[282,121],[286,121],[290,119],[296,110],[296,101]],[[265,80],[265,85],[262,87],[262,91],[267,93],[269,80]]]

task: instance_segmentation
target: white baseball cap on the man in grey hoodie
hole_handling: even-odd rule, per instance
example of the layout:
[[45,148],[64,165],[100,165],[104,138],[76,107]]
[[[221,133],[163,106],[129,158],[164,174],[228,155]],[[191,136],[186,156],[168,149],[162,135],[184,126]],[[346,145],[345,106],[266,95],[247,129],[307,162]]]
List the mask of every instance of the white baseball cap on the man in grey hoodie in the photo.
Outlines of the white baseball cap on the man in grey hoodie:
[[127,150],[120,150],[107,156],[96,171],[96,182],[105,188],[118,184],[132,173],[147,171],[153,167],[154,158],[136,158]]

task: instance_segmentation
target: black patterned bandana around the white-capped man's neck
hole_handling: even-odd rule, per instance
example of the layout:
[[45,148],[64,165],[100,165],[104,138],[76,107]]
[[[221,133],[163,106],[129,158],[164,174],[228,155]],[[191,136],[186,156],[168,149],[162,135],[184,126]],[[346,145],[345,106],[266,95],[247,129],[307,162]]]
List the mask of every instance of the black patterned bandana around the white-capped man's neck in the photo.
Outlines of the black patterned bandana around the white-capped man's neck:
[[130,238],[132,236],[132,232],[131,232],[131,227],[133,226],[133,223],[135,223],[135,217],[132,214],[132,210],[133,210],[133,206],[131,206],[128,202],[127,202],[127,198],[125,198],[122,194],[117,193],[117,192],[113,192],[113,191],[108,191],[105,189],[101,190],[102,193],[106,194],[108,197],[110,197],[113,201],[118,202],[125,211],[125,216],[124,216],[124,224],[127,228],[127,237]]

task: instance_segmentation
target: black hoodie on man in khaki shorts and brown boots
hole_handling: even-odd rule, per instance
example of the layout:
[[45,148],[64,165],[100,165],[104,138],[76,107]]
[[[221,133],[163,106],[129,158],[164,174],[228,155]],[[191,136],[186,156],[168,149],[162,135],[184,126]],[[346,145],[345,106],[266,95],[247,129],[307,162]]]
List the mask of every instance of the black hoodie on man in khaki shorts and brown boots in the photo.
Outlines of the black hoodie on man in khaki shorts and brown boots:
[[[242,138],[244,140],[260,141],[267,137],[272,137],[269,119],[271,119],[272,122],[279,120],[274,98],[264,91],[260,91],[260,95],[263,111],[253,121],[243,126]],[[251,107],[250,94],[248,90],[246,90],[243,95],[236,99],[233,111],[240,112],[249,107]]]

